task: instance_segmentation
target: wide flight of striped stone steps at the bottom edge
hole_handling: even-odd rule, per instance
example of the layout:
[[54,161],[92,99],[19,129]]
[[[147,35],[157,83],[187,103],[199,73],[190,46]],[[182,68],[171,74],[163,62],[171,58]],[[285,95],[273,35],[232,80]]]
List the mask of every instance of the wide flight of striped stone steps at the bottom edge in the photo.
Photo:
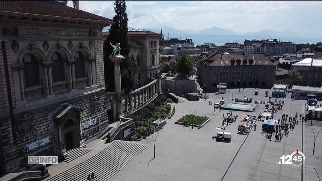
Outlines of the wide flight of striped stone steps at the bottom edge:
[[87,176],[94,172],[95,181],[107,180],[126,166],[136,155],[146,149],[148,145],[115,140],[103,151],[76,165],[75,167],[60,173],[49,181],[79,180],[86,181]]

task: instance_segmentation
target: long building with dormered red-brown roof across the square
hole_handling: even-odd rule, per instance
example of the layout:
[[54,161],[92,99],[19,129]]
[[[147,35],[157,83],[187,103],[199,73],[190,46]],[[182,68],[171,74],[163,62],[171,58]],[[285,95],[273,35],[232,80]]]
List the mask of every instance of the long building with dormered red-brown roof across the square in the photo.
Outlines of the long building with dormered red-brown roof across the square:
[[275,82],[276,63],[264,55],[215,52],[199,61],[202,89],[216,91],[219,83],[230,88],[267,87]]

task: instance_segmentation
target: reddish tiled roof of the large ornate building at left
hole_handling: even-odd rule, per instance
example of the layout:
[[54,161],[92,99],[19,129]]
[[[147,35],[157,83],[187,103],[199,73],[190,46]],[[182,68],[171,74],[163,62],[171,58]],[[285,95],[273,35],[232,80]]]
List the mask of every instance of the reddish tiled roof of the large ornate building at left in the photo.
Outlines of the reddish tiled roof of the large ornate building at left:
[[0,11],[96,20],[107,24],[113,23],[113,20],[102,16],[46,1],[1,1]]

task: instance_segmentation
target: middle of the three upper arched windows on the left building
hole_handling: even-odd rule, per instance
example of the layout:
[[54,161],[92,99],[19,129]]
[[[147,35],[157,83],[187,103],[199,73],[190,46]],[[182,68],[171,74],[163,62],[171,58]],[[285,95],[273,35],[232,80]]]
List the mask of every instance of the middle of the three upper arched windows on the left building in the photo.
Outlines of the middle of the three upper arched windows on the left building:
[[52,81],[64,81],[65,80],[65,66],[64,61],[59,53],[53,53],[51,56],[52,63]]

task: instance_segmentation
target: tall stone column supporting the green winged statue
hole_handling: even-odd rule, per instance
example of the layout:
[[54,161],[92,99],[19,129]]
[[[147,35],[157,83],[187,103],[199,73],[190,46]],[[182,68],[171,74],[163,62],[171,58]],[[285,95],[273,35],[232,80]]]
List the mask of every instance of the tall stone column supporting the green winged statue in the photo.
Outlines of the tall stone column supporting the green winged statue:
[[122,113],[122,87],[121,87],[121,61],[125,59],[124,56],[111,56],[110,60],[114,63],[114,85],[116,92],[116,114],[120,115]]

